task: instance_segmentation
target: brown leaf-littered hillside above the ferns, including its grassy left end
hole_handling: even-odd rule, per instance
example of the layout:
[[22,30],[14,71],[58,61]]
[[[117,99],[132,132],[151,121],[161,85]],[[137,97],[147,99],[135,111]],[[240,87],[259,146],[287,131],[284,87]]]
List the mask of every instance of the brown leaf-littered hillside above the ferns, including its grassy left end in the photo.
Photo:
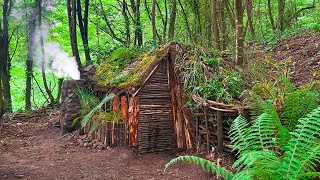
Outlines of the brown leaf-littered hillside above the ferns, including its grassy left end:
[[266,76],[287,71],[297,86],[320,80],[320,31],[282,39],[272,47],[248,45],[246,52],[248,63],[270,61],[277,67],[269,69]]

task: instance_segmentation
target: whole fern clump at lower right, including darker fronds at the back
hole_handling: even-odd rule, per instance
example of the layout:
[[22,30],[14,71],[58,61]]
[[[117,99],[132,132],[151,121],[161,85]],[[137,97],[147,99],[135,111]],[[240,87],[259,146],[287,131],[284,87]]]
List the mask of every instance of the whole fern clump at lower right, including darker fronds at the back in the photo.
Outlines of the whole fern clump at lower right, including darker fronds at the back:
[[243,116],[231,125],[233,151],[238,160],[235,173],[205,159],[190,156],[175,158],[166,169],[185,161],[201,165],[206,171],[225,179],[310,179],[320,177],[315,172],[320,162],[320,106],[319,93],[312,86],[296,89],[284,81],[283,102],[264,101],[255,95],[250,122]]

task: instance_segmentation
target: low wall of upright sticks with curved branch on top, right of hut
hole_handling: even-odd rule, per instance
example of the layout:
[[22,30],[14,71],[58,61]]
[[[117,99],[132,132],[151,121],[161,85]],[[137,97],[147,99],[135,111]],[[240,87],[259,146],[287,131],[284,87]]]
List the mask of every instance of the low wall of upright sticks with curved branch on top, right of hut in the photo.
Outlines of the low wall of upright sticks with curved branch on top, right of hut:
[[250,107],[244,105],[228,105],[204,99],[194,95],[193,101],[200,106],[194,111],[196,119],[197,151],[213,150],[218,153],[231,153],[229,136],[230,123],[239,114],[248,114]]

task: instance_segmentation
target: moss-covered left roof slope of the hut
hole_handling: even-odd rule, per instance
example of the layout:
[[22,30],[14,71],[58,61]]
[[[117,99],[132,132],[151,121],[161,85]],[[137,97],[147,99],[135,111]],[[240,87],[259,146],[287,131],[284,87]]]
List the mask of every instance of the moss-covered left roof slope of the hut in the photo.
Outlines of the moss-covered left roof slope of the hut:
[[139,86],[166,54],[167,46],[148,52],[130,48],[114,51],[97,68],[97,85],[115,88]]

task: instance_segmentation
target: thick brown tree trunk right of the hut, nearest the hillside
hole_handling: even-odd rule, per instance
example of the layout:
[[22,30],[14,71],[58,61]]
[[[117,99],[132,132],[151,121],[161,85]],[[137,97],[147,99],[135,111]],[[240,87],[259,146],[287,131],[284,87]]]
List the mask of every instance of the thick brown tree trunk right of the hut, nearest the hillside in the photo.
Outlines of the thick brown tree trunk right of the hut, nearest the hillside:
[[243,10],[242,0],[234,1],[236,14],[236,59],[237,64],[243,65]]

